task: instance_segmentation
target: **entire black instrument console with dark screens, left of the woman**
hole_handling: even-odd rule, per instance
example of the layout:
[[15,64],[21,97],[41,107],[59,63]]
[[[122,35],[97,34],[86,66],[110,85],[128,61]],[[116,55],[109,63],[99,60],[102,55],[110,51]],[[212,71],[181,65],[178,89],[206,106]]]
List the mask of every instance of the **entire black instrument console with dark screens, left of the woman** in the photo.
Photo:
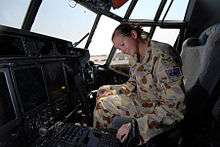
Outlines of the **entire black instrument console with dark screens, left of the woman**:
[[88,50],[6,26],[0,47],[0,147],[121,146],[116,131],[73,125],[79,110],[92,124]]

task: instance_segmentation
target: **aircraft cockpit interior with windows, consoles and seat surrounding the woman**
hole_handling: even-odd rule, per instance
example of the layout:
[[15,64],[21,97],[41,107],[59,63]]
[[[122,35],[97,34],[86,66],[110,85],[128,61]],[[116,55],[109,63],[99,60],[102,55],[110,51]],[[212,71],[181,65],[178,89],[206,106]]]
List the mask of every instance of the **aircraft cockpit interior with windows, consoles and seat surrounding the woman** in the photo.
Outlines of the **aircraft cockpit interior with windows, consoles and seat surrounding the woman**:
[[[219,147],[218,0],[27,0],[0,2],[0,147]],[[112,33],[121,23],[180,55],[185,113],[140,144],[93,127],[97,90],[129,79],[129,56]]]

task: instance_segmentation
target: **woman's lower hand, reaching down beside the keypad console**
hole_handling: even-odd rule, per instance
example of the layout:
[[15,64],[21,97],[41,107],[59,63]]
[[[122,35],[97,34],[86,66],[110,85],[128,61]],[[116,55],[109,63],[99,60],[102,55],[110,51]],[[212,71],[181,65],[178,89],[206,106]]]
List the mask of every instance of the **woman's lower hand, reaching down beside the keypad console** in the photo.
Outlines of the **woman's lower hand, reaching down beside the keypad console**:
[[130,123],[123,124],[118,129],[118,132],[116,134],[116,138],[118,138],[121,142],[124,142],[125,139],[128,137],[130,129],[131,129],[131,124]]

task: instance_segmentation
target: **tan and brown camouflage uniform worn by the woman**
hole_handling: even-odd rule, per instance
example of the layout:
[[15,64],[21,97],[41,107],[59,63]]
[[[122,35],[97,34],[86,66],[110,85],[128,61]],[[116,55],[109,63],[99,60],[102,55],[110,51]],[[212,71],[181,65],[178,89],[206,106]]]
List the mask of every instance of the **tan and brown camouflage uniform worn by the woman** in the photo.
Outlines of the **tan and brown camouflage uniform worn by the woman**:
[[128,82],[99,88],[93,124],[108,128],[117,115],[136,118],[144,143],[183,119],[183,75],[178,56],[164,43],[152,41],[141,63],[132,60]]

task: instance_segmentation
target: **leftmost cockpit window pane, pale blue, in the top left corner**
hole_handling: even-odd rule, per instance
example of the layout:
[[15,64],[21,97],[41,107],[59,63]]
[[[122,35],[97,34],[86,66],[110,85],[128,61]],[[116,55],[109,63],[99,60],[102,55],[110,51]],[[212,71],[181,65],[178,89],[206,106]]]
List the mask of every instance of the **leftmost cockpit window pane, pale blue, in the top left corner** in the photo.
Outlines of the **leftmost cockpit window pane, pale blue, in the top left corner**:
[[21,28],[23,19],[31,0],[1,0],[0,24]]

